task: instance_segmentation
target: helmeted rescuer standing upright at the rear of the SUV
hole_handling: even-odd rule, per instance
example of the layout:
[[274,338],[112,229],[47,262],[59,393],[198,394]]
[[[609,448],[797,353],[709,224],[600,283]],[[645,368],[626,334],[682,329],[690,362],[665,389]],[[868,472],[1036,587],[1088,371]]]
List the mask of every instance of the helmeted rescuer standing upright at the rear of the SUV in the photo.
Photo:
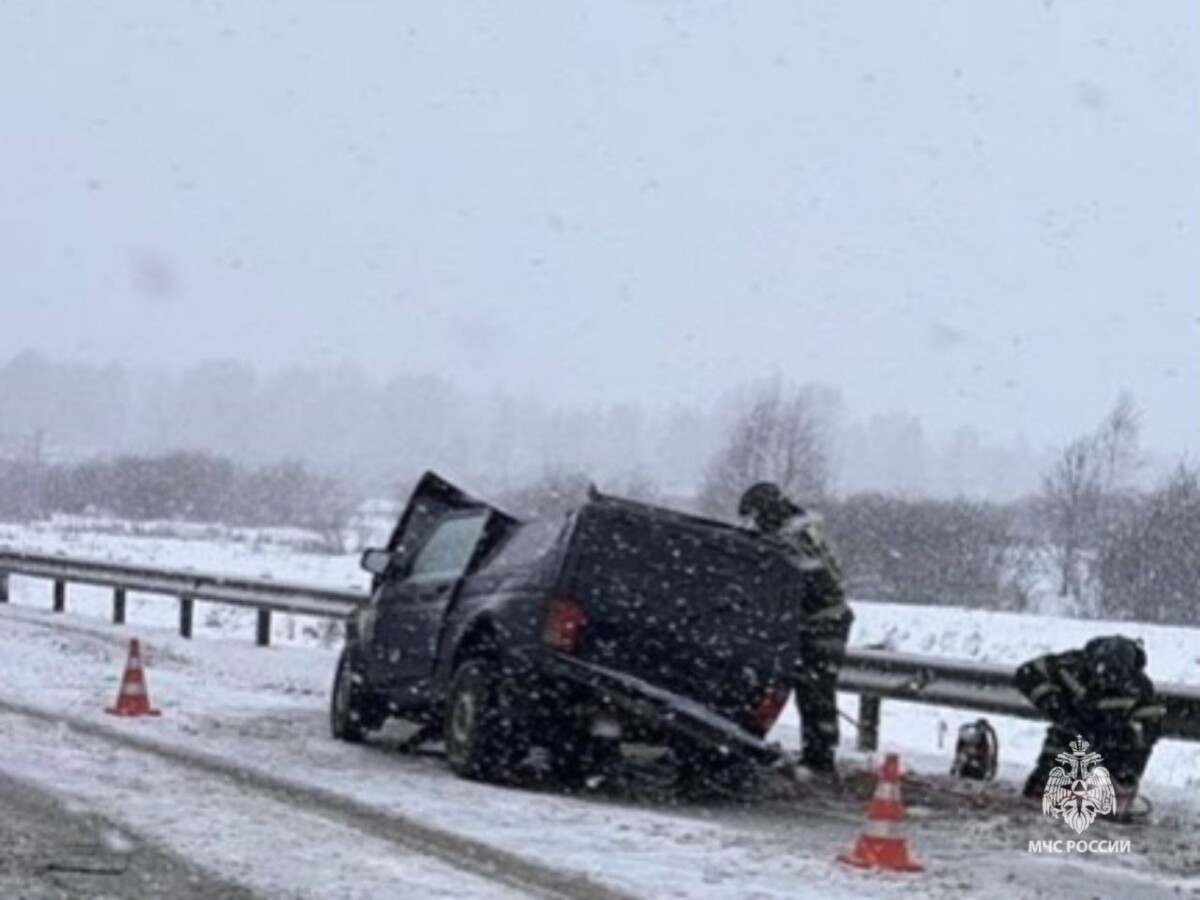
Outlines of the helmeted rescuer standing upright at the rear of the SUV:
[[838,671],[854,614],[846,605],[841,569],[817,516],[790,500],[778,485],[761,481],[738,504],[762,535],[782,544],[805,581],[800,656],[792,686],[800,713],[800,764],[834,772],[838,749]]

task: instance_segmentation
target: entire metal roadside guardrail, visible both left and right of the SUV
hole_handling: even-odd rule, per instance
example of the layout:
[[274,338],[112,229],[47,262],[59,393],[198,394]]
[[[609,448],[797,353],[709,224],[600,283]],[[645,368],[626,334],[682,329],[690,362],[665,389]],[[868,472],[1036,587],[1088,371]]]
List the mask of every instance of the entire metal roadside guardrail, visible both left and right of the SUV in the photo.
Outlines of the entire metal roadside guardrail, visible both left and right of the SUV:
[[[113,622],[125,622],[126,593],[160,594],[179,600],[179,632],[192,636],[192,604],[205,600],[258,611],[256,641],[270,643],[271,613],[299,613],[346,618],[366,594],[224,575],[133,566],[90,559],[0,551],[0,602],[8,599],[8,575],[48,578],[54,582],[53,608],[66,610],[67,584],[113,589]],[[1166,703],[1164,737],[1200,740],[1200,688],[1158,684]],[[846,654],[838,689],[859,695],[858,744],[875,750],[878,744],[883,700],[902,700],[979,713],[1044,719],[1013,686],[1013,670],[988,662],[918,656],[880,649],[851,649]]]

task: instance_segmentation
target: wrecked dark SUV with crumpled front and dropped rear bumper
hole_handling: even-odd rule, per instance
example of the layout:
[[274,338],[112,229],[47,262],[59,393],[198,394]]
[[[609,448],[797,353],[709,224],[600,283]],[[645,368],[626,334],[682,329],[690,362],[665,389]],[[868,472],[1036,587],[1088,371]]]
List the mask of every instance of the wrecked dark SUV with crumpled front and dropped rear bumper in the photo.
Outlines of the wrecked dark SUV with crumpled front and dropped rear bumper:
[[709,769],[776,755],[763,737],[787,698],[803,581],[742,529],[595,492],[522,522],[427,473],[362,565],[337,738],[413,720],[485,780],[517,778],[535,749],[563,775],[622,743]]

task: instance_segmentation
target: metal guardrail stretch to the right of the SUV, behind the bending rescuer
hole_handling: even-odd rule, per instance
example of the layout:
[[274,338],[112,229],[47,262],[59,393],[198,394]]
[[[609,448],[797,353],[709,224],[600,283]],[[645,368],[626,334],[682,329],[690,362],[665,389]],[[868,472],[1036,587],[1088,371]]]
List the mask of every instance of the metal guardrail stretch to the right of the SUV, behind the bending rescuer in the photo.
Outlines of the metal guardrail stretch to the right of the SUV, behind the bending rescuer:
[[[859,695],[859,749],[875,750],[884,698],[1045,720],[1013,686],[1013,671],[990,662],[852,649],[846,653],[838,690]],[[1163,737],[1200,740],[1200,688],[1164,682],[1154,688],[1166,704]]]

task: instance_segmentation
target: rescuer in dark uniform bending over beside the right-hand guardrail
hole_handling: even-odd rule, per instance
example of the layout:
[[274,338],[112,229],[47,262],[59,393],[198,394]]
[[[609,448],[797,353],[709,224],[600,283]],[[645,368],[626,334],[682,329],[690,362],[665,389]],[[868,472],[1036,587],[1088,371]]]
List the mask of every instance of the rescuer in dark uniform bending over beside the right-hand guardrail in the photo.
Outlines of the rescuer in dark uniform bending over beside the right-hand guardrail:
[[1141,644],[1115,635],[1093,638],[1081,650],[1038,656],[1016,670],[1018,690],[1050,719],[1042,754],[1025,782],[1026,797],[1042,797],[1058,764],[1055,757],[1069,754],[1070,742],[1081,734],[1112,776],[1117,811],[1128,810],[1166,714],[1145,667]]

